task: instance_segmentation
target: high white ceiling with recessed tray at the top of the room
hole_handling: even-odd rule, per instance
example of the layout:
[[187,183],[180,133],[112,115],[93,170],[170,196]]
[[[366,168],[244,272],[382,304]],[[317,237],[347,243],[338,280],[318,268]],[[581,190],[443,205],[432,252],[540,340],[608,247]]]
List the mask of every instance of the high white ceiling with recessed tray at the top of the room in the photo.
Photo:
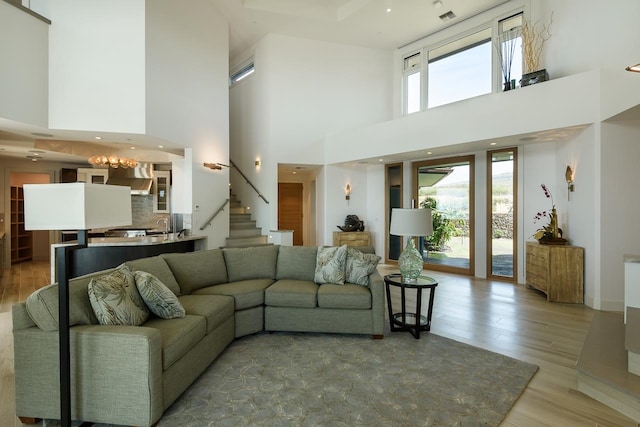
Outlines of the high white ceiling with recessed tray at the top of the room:
[[[507,0],[211,0],[233,60],[269,33],[395,49]],[[387,12],[387,10],[389,10]],[[453,12],[454,18],[440,16]]]

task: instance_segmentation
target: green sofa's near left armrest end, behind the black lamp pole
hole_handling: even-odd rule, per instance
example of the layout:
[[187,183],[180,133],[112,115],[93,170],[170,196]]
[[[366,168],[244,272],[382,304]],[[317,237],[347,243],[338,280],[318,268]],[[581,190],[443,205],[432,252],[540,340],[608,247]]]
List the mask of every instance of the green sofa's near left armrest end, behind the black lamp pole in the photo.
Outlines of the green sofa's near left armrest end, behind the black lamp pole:
[[[59,416],[58,332],[14,331],[16,415]],[[160,333],[139,326],[71,328],[73,419],[152,425],[162,415]]]

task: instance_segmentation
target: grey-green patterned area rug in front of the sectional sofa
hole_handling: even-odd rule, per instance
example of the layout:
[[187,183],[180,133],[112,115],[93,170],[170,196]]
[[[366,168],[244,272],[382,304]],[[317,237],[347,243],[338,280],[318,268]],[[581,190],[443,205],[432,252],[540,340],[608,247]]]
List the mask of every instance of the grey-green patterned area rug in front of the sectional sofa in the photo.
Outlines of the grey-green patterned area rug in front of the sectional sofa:
[[234,341],[159,426],[496,426],[538,367],[434,334]]

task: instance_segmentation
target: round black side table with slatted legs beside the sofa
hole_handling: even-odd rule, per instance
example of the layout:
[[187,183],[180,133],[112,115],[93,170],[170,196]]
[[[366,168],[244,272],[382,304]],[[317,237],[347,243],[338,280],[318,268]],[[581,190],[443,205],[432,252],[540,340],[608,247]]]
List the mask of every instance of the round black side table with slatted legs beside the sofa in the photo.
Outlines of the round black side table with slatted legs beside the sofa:
[[[405,282],[400,274],[388,274],[384,276],[384,284],[387,290],[387,308],[389,309],[389,325],[391,331],[409,331],[414,338],[420,339],[421,331],[431,330],[431,313],[433,311],[433,297],[436,292],[438,282],[428,276],[420,276],[412,282]],[[401,311],[394,313],[391,304],[390,286],[400,288]],[[406,306],[406,290],[415,289],[416,291],[416,312],[407,312]],[[427,315],[420,314],[422,309],[422,291],[429,289],[429,308]]]

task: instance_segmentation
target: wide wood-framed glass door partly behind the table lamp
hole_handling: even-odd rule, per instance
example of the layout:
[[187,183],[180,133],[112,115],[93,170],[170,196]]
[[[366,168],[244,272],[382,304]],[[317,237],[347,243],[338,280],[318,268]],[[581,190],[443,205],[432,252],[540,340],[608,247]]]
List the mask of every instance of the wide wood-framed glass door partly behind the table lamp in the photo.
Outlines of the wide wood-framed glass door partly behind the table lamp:
[[473,169],[473,156],[414,163],[418,207],[433,217],[433,234],[418,240],[425,268],[473,274]]

